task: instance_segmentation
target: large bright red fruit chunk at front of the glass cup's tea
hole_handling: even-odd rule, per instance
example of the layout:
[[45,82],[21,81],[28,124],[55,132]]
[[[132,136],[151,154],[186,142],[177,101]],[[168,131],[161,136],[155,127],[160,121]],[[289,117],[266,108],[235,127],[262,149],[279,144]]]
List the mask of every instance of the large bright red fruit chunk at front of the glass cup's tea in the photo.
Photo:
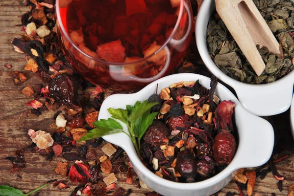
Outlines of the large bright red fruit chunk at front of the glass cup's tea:
[[123,63],[125,57],[125,48],[121,40],[98,45],[96,52],[103,60],[108,62]]

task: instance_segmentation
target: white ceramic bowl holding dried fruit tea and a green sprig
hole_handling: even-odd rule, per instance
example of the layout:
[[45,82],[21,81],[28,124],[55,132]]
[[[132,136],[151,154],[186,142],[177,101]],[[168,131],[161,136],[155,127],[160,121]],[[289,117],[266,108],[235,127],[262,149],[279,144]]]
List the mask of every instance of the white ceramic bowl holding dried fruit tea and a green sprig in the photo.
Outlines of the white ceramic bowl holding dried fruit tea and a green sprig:
[[[196,81],[210,88],[210,78],[192,73],[182,73],[161,78],[134,94],[114,94],[107,97],[100,109],[98,119],[107,119],[111,115],[108,108],[125,109],[126,105],[134,105],[136,101],[145,101],[158,89],[170,87],[181,81]],[[160,90],[159,90],[160,91]],[[239,147],[232,162],[220,173],[207,180],[195,183],[172,182],[153,174],[138,158],[129,137],[124,133],[104,136],[103,139],[118,145],[128,154],[135,172],[147,186],[164,196],[210,196],[221,190],[233,177],[239,168],[257,167],[266,163],[272,153],[274,133],[270,123],[249,113],[237,98],[223,85],[218,84],[216,94],[221,100],[232,100],[236,104],[235,119],[239,133]],[[124,124],[123,128],[126,130]]]

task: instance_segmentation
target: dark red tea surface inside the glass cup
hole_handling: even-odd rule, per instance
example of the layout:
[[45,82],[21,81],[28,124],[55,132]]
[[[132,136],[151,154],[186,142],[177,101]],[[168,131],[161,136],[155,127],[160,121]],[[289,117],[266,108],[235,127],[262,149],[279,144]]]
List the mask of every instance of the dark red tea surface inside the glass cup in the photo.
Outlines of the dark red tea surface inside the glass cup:
[[73,0],[67,7],[67,31],[81,30],[85,46],[120,40],[125,56],[144,57],[156,41],[164,44],[177,21],[170,0]]

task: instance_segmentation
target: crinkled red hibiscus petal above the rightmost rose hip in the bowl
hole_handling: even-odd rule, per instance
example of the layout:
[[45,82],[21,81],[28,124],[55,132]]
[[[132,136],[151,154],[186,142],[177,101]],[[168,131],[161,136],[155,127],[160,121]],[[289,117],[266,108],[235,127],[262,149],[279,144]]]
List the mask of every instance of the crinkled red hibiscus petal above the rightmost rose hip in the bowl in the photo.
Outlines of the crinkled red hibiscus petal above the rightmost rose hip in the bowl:
[[222,101],[215,111],[217,128],[219,130],[231,131],[233,129],[232,114],[235,103]]

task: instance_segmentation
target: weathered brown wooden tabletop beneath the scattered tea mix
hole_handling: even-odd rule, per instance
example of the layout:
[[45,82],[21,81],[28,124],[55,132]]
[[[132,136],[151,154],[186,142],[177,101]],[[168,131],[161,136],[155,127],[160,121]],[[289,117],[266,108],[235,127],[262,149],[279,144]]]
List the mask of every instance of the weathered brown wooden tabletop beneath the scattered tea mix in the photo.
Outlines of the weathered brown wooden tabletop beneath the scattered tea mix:
[[[49,125],[54,122],[52,118],[54,112],[47,110],[39,117],[22,117],[24,110],[29,109],[29,107],[25,106],[25,103],[30,98],[25,97],[21,90],[26,86],[34,87],[38,84],[43,84],[38,75],[24,70],[26,64],[25,55],[15,52],[10,44],[13,37],[22,34],[21,27],[15,25],[21,23],[19,16],[28,11],[28,7],[23,6],[23,4],[24,0],[0,0],[0,185],[10,185],[27,193],[43,185],[47,180],[54,178],[69,179],[68,177],[62,178],[54,172],[57,162],[64,160],[60,157],[54,157],[49,162],[38,153],[25,150],[25,168],[21,169],[19,173],[13,174],[9,173],[11,162],[4,160],[7,156],[14,156],[17,149],[25,149],[31,144],[31,140],[27,135],[28,129],[53,131],[49,128]],[[3,66],[5,64],[13,66],[11,69],[7,69]],[[15,86],[10,76],[13,70],[24,71],[28,76],[28,80],[19,87]],[[89,91],[91,90],[93,89],[89,89]],[[263,180],[260,180],[259,177],[257,178],[254,193],[259,193],[262,196],[270,196],[271,193],[275,193],[276,196],[286,196],[288,186],[294,184],[294,141],[290,130],[289,110],[284,114],[267,117],[266,119],[273,124],[276,142],[279,141],[279,144],[281,144],[279,146],[282,147],[280,154],[290,154],[290,156],[277,164],[279,173],[285,176],[283,191],[278,190],[278,181],[272,174],[268,174]],[[100,157],[103,152],[97,148],[96,154]],[[22,178],[17,175],[22,176]],[[147,189],[138,188],[138,179],[134,179],[134,184],[129,185],[124,182],[126,176],[118,174],[117,177],[119,179],[118,186],[132,189],[131,196],[144,196],[147,193]],[[50,184],[40,191],[39,196],[69,196],[78,184],[72,182],[67,184],[70,188],[64,190],[59,190],[57,187],[53,188],[52,184]],[[236,186],[235,182],[230,182],[222,189],[220,196],[225,195],[227,192],[238,193],[235,189]]]

